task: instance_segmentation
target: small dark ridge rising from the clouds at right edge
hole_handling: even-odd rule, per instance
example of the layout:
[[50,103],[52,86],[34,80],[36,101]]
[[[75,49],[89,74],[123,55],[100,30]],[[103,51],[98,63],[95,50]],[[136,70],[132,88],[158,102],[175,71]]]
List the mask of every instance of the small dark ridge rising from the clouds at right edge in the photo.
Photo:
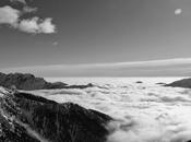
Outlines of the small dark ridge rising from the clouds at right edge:
[[191,79],[175,81],[172,83],[166,84],[165,86],[191,88]]

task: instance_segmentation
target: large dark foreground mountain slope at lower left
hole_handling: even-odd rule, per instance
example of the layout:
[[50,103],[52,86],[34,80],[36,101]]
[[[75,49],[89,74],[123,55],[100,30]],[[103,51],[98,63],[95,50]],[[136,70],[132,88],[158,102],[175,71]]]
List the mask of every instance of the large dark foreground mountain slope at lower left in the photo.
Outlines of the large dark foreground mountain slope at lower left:
[[0,93],[0,142],[105,142],[111,118],[76,104]]

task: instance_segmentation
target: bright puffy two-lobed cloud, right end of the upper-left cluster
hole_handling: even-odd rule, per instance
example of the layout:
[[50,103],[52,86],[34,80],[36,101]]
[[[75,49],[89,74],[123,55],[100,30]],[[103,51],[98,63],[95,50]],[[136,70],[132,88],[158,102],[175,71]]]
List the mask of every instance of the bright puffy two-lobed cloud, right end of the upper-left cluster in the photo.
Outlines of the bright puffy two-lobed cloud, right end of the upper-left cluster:
[[40,20],[39,17],[35,16],[33,19],[22,20],[19,24],[19,28],[26,33],[51,34],[55,33],[56,26],[51,23],[50,17]]

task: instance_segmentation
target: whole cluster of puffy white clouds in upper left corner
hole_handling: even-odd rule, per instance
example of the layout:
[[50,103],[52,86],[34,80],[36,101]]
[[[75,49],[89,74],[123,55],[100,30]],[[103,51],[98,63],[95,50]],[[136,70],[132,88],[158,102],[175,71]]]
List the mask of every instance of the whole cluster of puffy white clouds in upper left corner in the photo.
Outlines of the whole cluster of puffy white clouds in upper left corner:
[[56,25],[51,17],[40,19],[38,16],[21,19],[25,13],[37,11],[37,8],[31,8],[25,0],[10,0],[11,2],[21,2],[24,4],[23,10],[14,9],[10,5],[0,8],[0,25],[8,25],[21,32],[32,34],[52,34],[56,32]]

